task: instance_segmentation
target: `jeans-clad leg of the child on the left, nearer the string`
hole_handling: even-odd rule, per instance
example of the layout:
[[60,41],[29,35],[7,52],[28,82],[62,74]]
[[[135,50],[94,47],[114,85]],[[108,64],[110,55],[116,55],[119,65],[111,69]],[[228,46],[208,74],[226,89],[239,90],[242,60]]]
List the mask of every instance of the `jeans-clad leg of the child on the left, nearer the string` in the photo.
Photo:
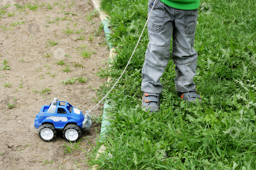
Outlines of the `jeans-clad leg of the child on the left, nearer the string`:
[[[149,4],[149,13],[152,4]],[[173,16],[165,11],[165,4],[156,0],[148,20],[149,44],[142,68],[141,89],[147,93],[161,93],[163,86],[160,77],[170,58],[170,43],[173,29]]]

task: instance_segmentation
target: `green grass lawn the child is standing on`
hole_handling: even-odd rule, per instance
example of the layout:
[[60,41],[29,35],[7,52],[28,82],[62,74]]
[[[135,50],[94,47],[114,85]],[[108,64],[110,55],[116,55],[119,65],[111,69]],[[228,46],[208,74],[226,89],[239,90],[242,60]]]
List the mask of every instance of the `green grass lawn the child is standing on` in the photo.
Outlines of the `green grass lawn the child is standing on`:
[[[89,164],[100,169],[256,169],[256,2],[201,3],[213,7],[210,14],[198,9],[194,43],[194,82],[203,105],[187,105],[176,96],[175,65],[170,60],[161,77],[160,112],[141,110],[141,69],[149,43],[145,30],[124,76],[109,94],[111,126],[103,139],[108,150],[95,160],[102,144],[97,143]],[[136,46],[148,1],[102,0],[101,5],[110,15],[109,38],[117,51],[111,72],[99,72],[112,77],[110,86],[98,92],[105,95]],[[127,33],[131,25],[139,29],[138,35]]]

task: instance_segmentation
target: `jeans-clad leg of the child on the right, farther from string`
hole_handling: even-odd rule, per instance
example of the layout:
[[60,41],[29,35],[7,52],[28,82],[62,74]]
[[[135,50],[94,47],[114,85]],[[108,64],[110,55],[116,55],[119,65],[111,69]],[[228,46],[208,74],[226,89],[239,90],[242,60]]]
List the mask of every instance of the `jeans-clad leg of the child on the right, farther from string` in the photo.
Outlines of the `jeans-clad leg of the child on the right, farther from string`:
[[174,9],[172,59],[175,64],[177,76],[174,78],[177,92],[189,92],[195,89],[193,78],[196,75],[197,52],[193,48],[197,9]]

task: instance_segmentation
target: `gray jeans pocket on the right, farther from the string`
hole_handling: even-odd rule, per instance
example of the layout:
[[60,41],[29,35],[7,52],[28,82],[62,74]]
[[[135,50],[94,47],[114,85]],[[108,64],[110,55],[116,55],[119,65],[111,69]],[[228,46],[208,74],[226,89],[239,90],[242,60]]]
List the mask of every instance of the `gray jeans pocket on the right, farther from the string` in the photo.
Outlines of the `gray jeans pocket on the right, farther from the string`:
[[185,10],[184,31],[186,35],[192,35],[196,31],[198,9]]

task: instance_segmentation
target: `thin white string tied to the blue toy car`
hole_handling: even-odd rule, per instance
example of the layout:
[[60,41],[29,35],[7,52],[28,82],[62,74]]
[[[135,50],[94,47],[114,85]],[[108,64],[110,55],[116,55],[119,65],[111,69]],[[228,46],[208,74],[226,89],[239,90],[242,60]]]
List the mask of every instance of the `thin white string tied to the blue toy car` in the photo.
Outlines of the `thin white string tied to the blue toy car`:
[[[156,0],[155,0],[155,1],[156,1]],[[152,12],[152,10],[153,10],[153,8],[154,8],[155,1],[154,1],[154,3],[153,3],[152,9],[151,9],[151,11],[150,11],[150,13],[149,13],[149,16],[150,16],[150,14],[151,14],[151,12]],[[144,25],[144,28],[143,28],[143,30],[142,30],[142,32],[141,32],[141,35],[140,35],[139,40],[138,40],[138,42],[137,42],[137,44],[136,44],[136,47],[134,48],[134,50],[133,50],[133,52],[132,52],[132,54],[131,54],[131,57],[130,57],[130,59],[129,59],[129,61],[128,61],[127,65],[126,65],[126,67],[125,67],[125,69],[124,69],[124,71],[122,72],[121,76],[117,79],[117,81],[116,81],[116,83],[113,85],[113,87],[107,92],[107,94],[101,99],[101,101],[99,101],[99,103],[98,103],[97,105],[99,105],[99,104],[107,97],[107,95],[113,90],[113,88],[114,88],[114,87],[116,86],[116,84],[119,82],[120,78],[121,78],[121,77],[123,76],[123,74],[125,73],[125,71],[126,71],[128,65],[129,65],[129,63],[130,63],[130,61],[131,61],[131,58],[132,58],[133,54],[135,53],[135,50],[136,50],[136,48],[137,48],[137,46],[138,46],[138,44],[139,44],[139,42],[140,42],[140,39],[141,39],[142,34],[143,34],[144,30],[145,30],[145,27],[147,26],[148,20],[149,20],[149,17],[148,17],[148,19],[147,19],[147,21],[146,21],[146,23],[145,23],[145,25]],[[93,110],[97,105],[95,105],[93,108],[91,108],[88,112],[90,112],[91,110]]]

